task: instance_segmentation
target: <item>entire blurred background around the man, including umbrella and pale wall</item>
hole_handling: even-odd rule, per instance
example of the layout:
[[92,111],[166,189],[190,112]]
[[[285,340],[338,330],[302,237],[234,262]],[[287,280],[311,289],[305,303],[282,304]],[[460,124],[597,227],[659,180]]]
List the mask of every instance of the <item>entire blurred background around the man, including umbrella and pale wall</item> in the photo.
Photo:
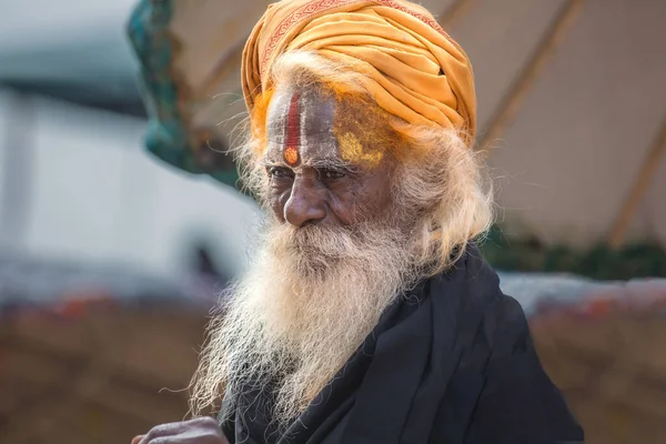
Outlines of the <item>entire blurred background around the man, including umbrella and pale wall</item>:
[[[501,208],[483,249],[546,370],[587,442],[666,443],[666,2],[422,4],[474,64]],[[223,151],[265,7],[0,3],[1,443],[185,415],[259,220]]]

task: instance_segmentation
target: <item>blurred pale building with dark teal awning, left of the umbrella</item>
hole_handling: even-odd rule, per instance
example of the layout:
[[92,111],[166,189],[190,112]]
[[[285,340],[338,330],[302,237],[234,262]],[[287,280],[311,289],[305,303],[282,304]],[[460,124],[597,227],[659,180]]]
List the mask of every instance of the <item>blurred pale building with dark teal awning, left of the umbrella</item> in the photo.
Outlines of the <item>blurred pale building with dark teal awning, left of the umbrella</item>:
[[123,34],[132,3],[2,7],[0,254],[172,276],[195,266],[203,244],[231,276],[244,263],[254,203],[143,150]]

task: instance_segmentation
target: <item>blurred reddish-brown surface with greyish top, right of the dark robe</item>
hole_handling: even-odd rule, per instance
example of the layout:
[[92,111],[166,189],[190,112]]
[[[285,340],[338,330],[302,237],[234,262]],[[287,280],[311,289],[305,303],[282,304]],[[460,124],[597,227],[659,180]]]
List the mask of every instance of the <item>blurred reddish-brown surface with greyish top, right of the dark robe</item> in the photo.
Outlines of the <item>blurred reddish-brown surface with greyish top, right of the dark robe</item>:
[[532,319],[587,444],[666,443],[666,285],[604,289]]

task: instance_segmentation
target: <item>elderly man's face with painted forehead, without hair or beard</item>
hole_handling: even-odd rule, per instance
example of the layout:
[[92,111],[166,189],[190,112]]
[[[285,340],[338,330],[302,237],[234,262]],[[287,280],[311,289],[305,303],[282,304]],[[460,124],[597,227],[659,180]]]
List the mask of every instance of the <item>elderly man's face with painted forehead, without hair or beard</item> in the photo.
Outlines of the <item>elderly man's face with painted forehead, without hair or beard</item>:
[[266,119],[268,203],[294,228],[351,225],[387,215],[394,159],[387,129],[331,93],[279,91]]

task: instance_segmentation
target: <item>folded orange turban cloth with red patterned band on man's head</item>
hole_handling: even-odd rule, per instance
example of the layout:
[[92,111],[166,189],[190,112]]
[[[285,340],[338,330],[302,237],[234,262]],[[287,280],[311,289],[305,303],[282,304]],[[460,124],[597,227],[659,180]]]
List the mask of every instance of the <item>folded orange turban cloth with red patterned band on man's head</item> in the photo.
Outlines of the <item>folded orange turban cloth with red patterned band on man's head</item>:
[[366,74],[376,103],[408,123],[453,128],[472,144],[474,74],[463,49],[424,8],[402,0],[283,0],[269,6],[245,43],[242,82],[252,110],[271,67],[313,51]]

